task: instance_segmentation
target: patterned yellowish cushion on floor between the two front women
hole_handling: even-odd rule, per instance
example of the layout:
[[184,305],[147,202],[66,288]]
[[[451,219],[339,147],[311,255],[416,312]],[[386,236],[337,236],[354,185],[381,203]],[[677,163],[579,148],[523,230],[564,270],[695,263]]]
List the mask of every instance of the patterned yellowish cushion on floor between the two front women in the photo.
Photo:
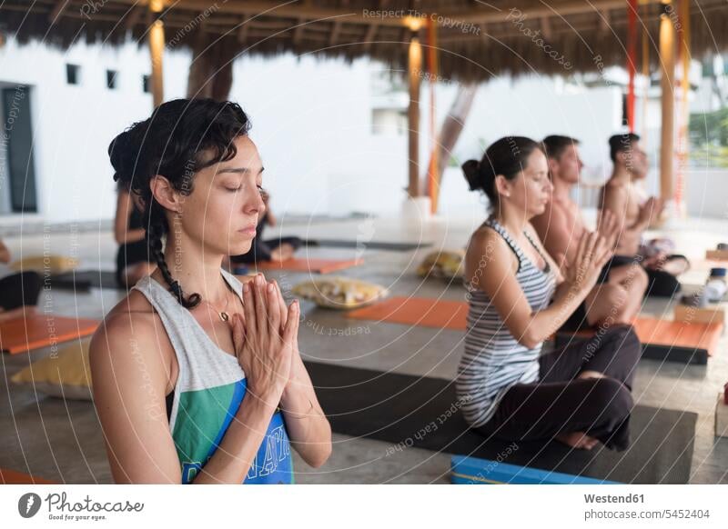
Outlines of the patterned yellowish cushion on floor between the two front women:
[[327,277],[293,287],[293,294],[321,307],[349,310],[374,303],[388,294],[385,287],[349,277]]

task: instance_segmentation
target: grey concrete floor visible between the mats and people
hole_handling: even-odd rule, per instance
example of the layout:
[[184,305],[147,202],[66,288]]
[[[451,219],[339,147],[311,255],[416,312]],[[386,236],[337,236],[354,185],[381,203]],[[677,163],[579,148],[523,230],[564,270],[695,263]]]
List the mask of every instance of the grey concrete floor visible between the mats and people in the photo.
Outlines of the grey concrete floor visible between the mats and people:
[[[389,287],[392,294],[410,294],[461,300],[465,291],[460,284],[436,280],[420,281],[415,269],[423,255],[432,249],[463,247],[473,227],[482,218],[439,219],[425,225],[403,225],[393,219],[351,219],[286,223],[286,235],[305,238],[338,238],[391,242],[426,242],[432,245],[412,252],[357,251],[315,248],[310,255],[362,256],[365,264],[340,273],[375,281]],[[704,250],[714,247],[728,233],[726,221],[691,220],[670,229],[669,235],[679,250],[696,260],[693,270],[682,277],[686,284],[701,284],[706,268],[698,260]],[[274,234],[267,234],[267,236]],[[359,238],[358,238],[359,237]],[[51,253],[76,255],[81,269],[112,270],[116,245],[108,231],[56,231],[50,238],[42,233],[5,235],[5,242],[16,256]],[[22,246],[22,248],[21,248]],[[306,252],[304,248],[302,250]],[[307,274],[271,274],[285,291],[308,278]],[[688,286],[690,288],[690,286]],[[289,292],[288,292],[288,295]],[[44,294],[45,296],[45,294]],[[87,294],[51,292],[48,306],[54,314],[101,318],[124,293],[92,289]],[[44,298],[45,303],[45,298]],[[342,314],[303,304],[304,322],[299,344],[308,360],[341,363],[403,374],[451,379],[458,364],[462,333],[449,330],[408,327],[399,324],[367,324],[347,321]],[[644,314],[671,317],[670,304],[650,300]],[[366,331],[357,327],[366,327]],[[349,335],[337,335],[350,329]],[[35,394],[10,384],[12,374],[29,362],[48,354],[0,355],[0,467],[37,474],[69,484],[111,483],[102,433],[96,410],[90,402],[63,401]],[[662,364],[642,360],[635,377],[634,396],[638,404],[687,410],[699,414],[691,483],[728,484],[728,438],[713,436],[713,411],[716,394],[728,381],[728,354],[723,337],[719,353],[707,366]],[[334,450],[329,462],[309,469],[297,459],[297,483],[376,484],[448,483],[450,455],[408,448],[388,455],[389,443],[334,435]]]

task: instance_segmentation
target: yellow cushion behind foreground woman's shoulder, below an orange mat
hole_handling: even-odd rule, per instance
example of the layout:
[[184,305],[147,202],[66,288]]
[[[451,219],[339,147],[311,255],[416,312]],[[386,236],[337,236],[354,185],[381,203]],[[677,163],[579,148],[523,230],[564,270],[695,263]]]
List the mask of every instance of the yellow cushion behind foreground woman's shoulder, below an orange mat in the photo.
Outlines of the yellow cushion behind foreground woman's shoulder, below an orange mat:
[[76,340],[28,365],[11,378],[14,384],[34,387],[52,396],[91,400],[91,365],[88,362],[88,344],[91,339]]

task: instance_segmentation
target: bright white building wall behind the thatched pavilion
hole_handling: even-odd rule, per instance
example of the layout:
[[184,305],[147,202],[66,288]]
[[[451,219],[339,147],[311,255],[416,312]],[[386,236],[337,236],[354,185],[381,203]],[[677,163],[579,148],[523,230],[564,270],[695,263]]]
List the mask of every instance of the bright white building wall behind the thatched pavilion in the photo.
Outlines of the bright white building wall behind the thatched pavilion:
[[[165,55],[167,99],[185,95],[189,60],[183,52]],[[66,85],[66,63],[82,66],[80,86]],[[40,45],[18,48],[10,40],[0,48],[0,65],[0,82],[33,87],[41,215],[50,222],[110,219],[115,193],[106,148],[151,112],[151,95],[141,88],[149,72],[147,47],[77,45],[62,53]],[[119,71],[116,91],[106,88],[107,68]],[[251,137],[266,166],[264,185],[279,215],[399,213],[408,179],[407,136],[371,132],[372,108],[382,100],[372,75],[383,68],[290,55],[236,62],[230,98],[250,115]],[[456,89],[437,86],[438,123]],[[428,101],[424,84],[423,172],[430,152]],[[496,79],[480,87],[453,155],[458,164],[480,158],[483,144],[503,135],[572,135],[581,140],[585,176],[603,179],[611,170],[607,138],[619,131],[621,112],[617,87],[573,88],[548,77]],[[457,167],[446,171],[440,197],[445,216],[484,207]]]

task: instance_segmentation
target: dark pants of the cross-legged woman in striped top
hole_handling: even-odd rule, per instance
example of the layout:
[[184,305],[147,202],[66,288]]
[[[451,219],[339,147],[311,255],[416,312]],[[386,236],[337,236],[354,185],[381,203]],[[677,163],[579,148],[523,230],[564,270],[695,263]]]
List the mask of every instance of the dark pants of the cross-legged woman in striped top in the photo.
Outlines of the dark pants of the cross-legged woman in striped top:
[[[509,441],[584,432],[622,451],[630,442],[632,378],[640,354],[630,325],[602,328],[588,340],[544,354],[539,382],[513,385],[495,415],[477,429]],[[582,371],[606,376],[576,378]]]

